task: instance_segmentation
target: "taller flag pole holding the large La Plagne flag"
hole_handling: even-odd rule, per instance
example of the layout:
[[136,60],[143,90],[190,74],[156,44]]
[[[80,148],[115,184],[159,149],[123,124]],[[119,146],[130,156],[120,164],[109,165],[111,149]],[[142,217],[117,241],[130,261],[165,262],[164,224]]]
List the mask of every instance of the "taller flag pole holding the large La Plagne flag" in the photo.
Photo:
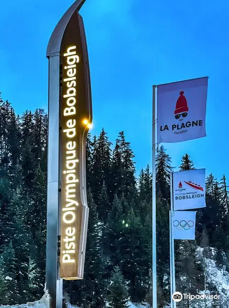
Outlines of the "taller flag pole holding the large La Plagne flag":
[[153,146],[152,146],[152,307],[157,308],[156,251],[156,86],[153,85]]

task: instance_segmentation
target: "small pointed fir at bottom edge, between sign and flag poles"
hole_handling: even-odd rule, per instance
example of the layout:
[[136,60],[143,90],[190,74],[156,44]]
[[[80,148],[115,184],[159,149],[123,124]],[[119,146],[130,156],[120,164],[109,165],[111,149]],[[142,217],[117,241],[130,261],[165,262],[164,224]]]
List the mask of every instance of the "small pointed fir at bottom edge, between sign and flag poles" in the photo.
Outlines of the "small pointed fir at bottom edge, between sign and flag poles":
[[115,266],[109,286],[109,305],[110,308],[128,308],[128,291],[124,283],[123,276],[118,266]]

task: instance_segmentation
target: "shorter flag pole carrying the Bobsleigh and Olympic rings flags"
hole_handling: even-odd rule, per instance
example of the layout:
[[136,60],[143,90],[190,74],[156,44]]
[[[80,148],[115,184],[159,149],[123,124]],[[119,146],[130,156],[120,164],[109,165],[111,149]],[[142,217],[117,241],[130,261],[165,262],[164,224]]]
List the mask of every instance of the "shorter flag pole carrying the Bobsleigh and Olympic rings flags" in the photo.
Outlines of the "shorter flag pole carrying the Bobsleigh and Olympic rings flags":
[[170,173],[170,292],[171,292],[171,308],[176,308],[176,302],[173,300],[173,293],[176,292],[176,280],[175,280],[175,251],[174,251],[174,232],[173,232],[173,172]]

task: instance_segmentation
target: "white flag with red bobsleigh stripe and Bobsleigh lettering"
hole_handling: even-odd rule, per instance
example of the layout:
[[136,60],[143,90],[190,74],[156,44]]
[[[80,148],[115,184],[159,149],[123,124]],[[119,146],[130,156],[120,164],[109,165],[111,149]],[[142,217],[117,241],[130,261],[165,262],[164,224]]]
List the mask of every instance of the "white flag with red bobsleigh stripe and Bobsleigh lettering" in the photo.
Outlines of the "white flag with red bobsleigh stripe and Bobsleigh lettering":
[[174,209],[205,207],[205,169],[173,173]]

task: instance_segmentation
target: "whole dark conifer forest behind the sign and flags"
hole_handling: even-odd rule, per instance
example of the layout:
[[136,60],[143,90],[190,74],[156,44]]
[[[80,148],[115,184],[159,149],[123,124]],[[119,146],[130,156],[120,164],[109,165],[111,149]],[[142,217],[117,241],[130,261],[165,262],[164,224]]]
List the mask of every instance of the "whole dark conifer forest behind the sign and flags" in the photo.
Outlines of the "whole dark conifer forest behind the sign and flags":
[[[20,304],[44,294],[46,266],[48,115],[43,109],[17,115],[0,95],[0,304]],[[149,144],[149,147],[151,145]],[[150,163],[150,162],[149,162]],[[156,158],[158,307],[170,303],[169,210],[172,158],[159,146]],[[189,153],[180,170],[195,168]],[[203,166],[204,168],[205,166]],[[64,281],[64,305],[122,308],[152,302],[152,173],[136,174],[131,144],[121,130],[106,128],[87,139],[90,208],[85,275]],[[175,241],[177,291],[221,292],[220,300],[177,307],[228,307],[229,292],[215,283],[209,262],[229,277],[227,179],[206,177],[206,207],[197,211],[196,240]],[[211,263],[211,264],[212,264]],[[220,273],[221,273],[220,272]],[[212,274],[213,275],[213,274]],[[229,281],[228,281],[229,285]],[[226,291],[225,291],[226,290]]]

